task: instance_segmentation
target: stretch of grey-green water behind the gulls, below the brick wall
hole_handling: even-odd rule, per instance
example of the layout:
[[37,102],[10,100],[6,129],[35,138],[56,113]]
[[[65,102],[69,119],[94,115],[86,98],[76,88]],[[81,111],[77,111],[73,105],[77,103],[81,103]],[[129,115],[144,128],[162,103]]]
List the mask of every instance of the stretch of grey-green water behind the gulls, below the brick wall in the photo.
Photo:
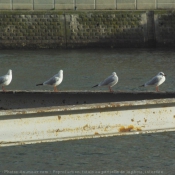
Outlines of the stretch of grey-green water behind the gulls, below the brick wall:
[[162,91],[174,91],[175,51],[160,49],[82,49],[82,50],[1,50],[0,75],[8,69],[13,71],[13,80],[7,89],[52,90],[36,87],[60,69],[64,79],[58,89],[64,90],[108,90],[91,87],[112,72],[119,76],[114,90],[154,91],[155,88],[139,88],[162,71],[167,75]]

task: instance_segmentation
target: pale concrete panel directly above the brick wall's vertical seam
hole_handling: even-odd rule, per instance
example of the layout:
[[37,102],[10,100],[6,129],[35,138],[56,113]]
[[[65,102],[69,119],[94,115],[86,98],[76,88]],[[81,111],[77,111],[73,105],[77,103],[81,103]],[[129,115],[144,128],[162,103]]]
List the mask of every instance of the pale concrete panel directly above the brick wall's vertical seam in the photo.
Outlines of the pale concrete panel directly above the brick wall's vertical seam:
[[74,0],[55,0],[55,9],[73,10],[74,8]]

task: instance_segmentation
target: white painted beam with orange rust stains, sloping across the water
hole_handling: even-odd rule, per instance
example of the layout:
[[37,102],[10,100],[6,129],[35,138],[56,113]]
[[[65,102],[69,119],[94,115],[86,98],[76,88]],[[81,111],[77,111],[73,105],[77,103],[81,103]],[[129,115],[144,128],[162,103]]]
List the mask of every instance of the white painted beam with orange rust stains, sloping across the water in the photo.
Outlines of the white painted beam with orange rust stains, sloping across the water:
[[175,130],[175,98],[0,111],[0,146]]

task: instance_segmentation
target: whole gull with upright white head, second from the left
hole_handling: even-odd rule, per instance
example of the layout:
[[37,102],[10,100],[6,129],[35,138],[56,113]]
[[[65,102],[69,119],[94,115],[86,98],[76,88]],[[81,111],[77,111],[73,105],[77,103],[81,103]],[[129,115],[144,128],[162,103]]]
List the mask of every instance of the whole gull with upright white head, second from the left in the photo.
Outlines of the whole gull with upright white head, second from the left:
[[53,86],[54,87],[54,92],[58,92],[56,86],[61,84],[62,81],[63,81],[63,70],[60,70],[58,72],[58,74],[54,75],[52,78],[50,78],[49,80],[45,81],[44,83],[37,84],[36,86],[40,86],[40,85]]

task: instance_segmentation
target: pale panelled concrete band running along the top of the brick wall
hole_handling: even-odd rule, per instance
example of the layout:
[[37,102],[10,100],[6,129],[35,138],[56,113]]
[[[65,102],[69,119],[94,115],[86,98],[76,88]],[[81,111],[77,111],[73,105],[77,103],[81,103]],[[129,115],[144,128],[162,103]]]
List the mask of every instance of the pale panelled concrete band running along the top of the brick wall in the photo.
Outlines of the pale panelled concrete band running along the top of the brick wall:
[[175,0],[0,0],[0,10],[160,10]]

